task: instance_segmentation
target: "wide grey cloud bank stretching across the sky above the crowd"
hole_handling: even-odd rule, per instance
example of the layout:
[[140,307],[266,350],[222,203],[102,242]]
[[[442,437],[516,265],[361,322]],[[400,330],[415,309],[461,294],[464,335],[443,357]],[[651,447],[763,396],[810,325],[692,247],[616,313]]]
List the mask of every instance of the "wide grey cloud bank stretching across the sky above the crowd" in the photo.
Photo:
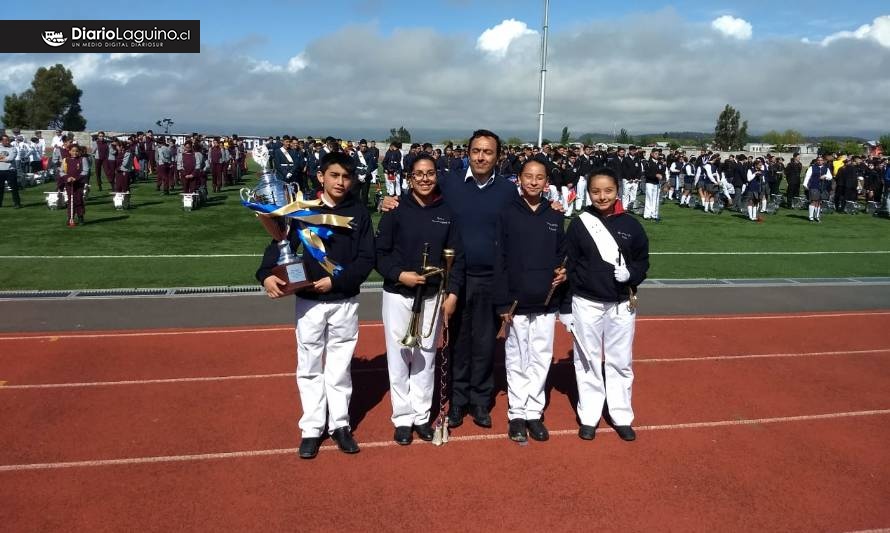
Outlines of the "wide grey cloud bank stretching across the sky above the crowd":
[[[875,57],[875,41],[816,46],[779,36],[745,41],[740,50],[739,41],[701,29],[663,10],[554,30],[545,134],[552,138],[563,126],[576,134],[613,127],[632,135],[707,132],[726,104],[753,133],[793,128],[873,138],[886,132],[885,116],[875,113],[890,109],[886,69],[862,68],[819,83],[776,82],[810,79],[825,65],[861,63]],[[205,45],[200,54],[84,54],[98,64],[71,54],[6,54],[0,97],[27,89],[37,67],[62,63],[75,71],[90,129],[145,129],[171,117],[180,131],[381,139],[404,125],[431,142],[480,127],[533,138],[538,39],[520,37],[504,59],[491,61],[475,37],[431,28],[382,32],[367,24],[341,28],[277,60],[232,43]]]

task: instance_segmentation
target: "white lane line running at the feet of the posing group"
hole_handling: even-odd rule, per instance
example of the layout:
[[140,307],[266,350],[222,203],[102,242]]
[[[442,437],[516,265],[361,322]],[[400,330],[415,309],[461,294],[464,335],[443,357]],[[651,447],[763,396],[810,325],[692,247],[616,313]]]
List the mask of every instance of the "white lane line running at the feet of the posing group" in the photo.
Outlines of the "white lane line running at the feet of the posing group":
[[[756,426],[763,424],[781,424],[787,422],[807,422],[813,420],[833,420],[839,418],[853,418],[864,416],[881,416],[890,414],[890,409],[876,409],[871,411],[849,411],[841,413],[825,413],[817,415],[801,415],[801,416],[783,416],[774,418],[753,418],[743,420],[716,420],[711,422],[687,422],[681,424],[663,424],[652,426],[639,426],[637,431],[667,431],[676,429],[701,429],[731,426]],[[599,431],[600,434],[605,430]],[[610,430],[611,432],[611,430]],[[577,429],[562,429],[551,431],[550,435],[554,437],[565,437],[577,435]],[[449,442],[478,442],[503,440],[506,437],[501,434],[487,433],[481,435],[452,436]],[[417,444],[428,445],[423,441],[415,441]],[[393,441],[377,441],[377,442],[360,442],[362,448],[391,448],[398,446]],[[322,446],[321,450],[328,452],[336,450],[334,445]],[[271,450],[249,450],[241,452],[223,452],[223,453],[202,453],[194,455],[161,455],[150,457],[131,457],[126,459],[97,459],[92,461],[70,461],[60,463],[31,463],[17,465],[0,465],[0,472],[21,472],[27,470],[57,470],[63,468],[86,468],[101,466],[123,466],[123,465],[141,465],[141,464],[157,464],[157,463],[181,463],[189,461],[207,461],[214,459],[237,459],[243,457],[263,457],[270,455],[291,455],[296,454],[298,448],[277,448]]]

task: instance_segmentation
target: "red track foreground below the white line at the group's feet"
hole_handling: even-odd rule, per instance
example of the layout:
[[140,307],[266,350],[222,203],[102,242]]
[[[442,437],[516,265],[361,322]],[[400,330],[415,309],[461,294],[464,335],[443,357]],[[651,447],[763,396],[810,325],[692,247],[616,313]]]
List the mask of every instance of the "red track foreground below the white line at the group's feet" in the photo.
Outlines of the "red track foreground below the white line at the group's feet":
[[7,531],[852,531],[890,419],[0,473]]

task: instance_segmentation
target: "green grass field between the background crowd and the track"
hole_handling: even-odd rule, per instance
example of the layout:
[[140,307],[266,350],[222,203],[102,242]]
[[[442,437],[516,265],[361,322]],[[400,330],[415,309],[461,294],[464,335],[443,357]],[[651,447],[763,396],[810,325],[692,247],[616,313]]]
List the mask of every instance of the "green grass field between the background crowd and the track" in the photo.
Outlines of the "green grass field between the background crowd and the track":
[[[252,175],[246,178],[252,180]],[[114,210],[107,188],[99,192],[94,186],[87,201],[87,223],[77,228],[65,226],[64,210],[46,208],[43,192],[53,187],[22,191],[25,208],[19,210],[11,208],[6,193],[0,209],[0,289],[255,283],[259,254],[269,239],[254,216],[239,205],[238,187],[211,194],[208,206],[184,212],[178,194],[162,196],[153,183],[134,186],[128,211]],[[375,213],[375,222],[378,218]],[[662,207],[662,219],[645,224],[653,252],[650,278],[890,275],[887,219],[827,215],[817,225],[806,220],[805,210],[780,210],[755,224],[735,213],[711,215],[673,204]],[[690,252],[735,255],[686,255]],[[749,252],[885,253],[746,255]],[[134,255],[154,257],[120,257]],[[225,255],[235,257],[183,257]],[[380,278],[374,273],[372,279]]]

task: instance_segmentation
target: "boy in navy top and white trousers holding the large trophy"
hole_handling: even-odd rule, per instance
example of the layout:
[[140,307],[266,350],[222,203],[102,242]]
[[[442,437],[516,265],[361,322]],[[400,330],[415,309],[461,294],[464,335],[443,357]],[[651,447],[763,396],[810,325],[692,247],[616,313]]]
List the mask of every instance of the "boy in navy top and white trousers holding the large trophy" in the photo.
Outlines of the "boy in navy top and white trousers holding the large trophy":
[[[321,198],[304,202],[297,196],[294,204],[299,204],[299,211],[290,217],[297,224],[281,229],[276,220],[260,216],[273,241],[256,273],[270,298],[284,296],[283,289],[297,280],[273,273],[280,266],[276,262],[281,241],[286,239],[292,250],[303,244],[303,273],[311,282],[298,290],[296,298],[297,387],[303,408],[299,455],[303,459],[318,453],[326,424],[341,451],[359,451],[349,427],[350,365],[358,340],[357,296],[375,260],[368,210],[349,194],[355,179],[352,158],[339,152],[325,155],[317,178]],[[292,271],[287,272],[291,275]]]

